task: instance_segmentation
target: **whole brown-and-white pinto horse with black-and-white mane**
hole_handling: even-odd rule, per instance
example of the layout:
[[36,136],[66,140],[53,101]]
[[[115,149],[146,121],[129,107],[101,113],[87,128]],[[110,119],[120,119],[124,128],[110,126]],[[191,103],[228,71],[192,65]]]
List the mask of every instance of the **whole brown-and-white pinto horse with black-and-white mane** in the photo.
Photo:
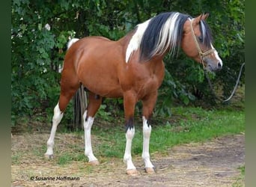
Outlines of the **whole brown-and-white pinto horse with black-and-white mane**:
[[126,125],[126,149],[124,162],[127,174],[138,174],[132,163],[131,147],[135,134],[134,110],[138,100],[143,111],[143,151],[142,159],[147,173],[154,173],[150,162],[149,142],[150,117],[156,103],[157,90],[164,78],[165,54],[183,52],[210,71],[222,68],[222,60],[212,44],[210,28],[205,22],[208,13],[195,18],[177,13],[160,13],[137,25],[120,40],[106,37],[84,37],[71,40],[64,58],[61,73],[61,93],[54,108],[52,130],[47,141],[45,156],[52,158],[55,132],[63,117],[64,110],[74,93],[84,86],[88,91],[88,107],[83,114],[85,129],[85,156],[92,165],[99,162],[91,147],[91,126],[94,115],[100,108],[103,97],[124,98]]

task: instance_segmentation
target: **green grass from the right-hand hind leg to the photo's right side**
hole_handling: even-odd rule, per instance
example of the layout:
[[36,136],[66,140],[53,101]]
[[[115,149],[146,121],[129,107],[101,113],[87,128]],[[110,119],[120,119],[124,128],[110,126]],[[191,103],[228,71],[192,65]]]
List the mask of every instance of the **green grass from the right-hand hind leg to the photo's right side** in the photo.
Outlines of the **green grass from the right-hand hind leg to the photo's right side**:
[[[234,135],[245,131],[245,114],[243,111],[211,110],[203,108],[174,108],[172,118],[152,124],[150,153],[165,153],[177,144],[202,142],[222,135]],[[132,140],[132,154],[142,152],[141,120],[135,122],[135,137]],[[109,127],[110,126],[110,127]],[[124,156],[124,126],[97,126],[94,124],[92,134],[99,138],[98,155],[106,157]],[[83,133],[83,132],[81,132]]]

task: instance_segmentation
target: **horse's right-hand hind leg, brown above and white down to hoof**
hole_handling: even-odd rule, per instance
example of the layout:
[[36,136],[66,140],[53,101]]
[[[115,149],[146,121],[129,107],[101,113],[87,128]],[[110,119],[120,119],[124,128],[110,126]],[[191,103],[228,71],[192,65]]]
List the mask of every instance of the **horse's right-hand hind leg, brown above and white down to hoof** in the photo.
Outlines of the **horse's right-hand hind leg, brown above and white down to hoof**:
[[94,156],[91,147],[91,126],[94,123],[94,115],[100,108],[102,97],[89,93],[88,96],[88,108],[85,111],[84,117],[84,129],[85,129],[85,156],[88,156],[91,165],[99,165],[98,159]]

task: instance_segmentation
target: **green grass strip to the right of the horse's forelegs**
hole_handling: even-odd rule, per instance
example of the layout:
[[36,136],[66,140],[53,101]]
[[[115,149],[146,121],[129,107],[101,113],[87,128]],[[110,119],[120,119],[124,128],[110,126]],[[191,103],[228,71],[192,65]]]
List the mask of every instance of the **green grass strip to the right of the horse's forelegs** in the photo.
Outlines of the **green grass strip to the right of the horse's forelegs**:
[[[244,132],[245,129],[244,114],[237,111],[203,111],[201,108],[190,108],[189,114],[182,114],[184,118],[180,122],[166,123],[161,128],[156,128],[152,135],[152,143],[155,142],[156,145],[152,144],[152,150],[154,147],[164,149],[192,141],[206,141],[220,135]],[[196,117],[191,117],[192,114],[196,114]]]

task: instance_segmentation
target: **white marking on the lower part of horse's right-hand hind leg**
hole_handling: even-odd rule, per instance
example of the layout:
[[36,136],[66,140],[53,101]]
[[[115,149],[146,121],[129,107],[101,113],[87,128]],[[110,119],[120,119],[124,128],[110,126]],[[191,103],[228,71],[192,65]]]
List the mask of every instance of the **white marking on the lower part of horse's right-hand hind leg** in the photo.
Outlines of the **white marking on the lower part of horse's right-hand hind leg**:
[[[89,162],[97,161],[98,159],[94,156],[91,147],[91,126],[94,123],[94,117],[87,117],[87,111],[84,115],[84,129],[85,129],[85,156],[88,156]],[[87,117],[87,120],[86,120]]]

